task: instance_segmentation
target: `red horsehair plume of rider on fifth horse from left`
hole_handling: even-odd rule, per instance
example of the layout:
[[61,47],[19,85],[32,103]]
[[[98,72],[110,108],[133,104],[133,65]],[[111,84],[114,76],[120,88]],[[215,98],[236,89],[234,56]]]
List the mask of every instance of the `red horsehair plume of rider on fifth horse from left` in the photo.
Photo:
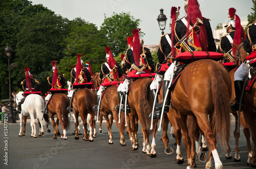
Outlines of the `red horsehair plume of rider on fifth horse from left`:
[[135,65],[137,67],[139,67],[139,62],[140,62],[140,46],[141,46],[139,32],[140,32],[140,29],[133,30],[133,36],[134,36],[133,57],[134,57]]

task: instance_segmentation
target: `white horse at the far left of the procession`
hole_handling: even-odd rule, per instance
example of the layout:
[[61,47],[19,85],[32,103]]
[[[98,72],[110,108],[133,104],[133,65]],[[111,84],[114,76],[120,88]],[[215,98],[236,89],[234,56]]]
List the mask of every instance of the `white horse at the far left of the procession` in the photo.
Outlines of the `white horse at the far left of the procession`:
[[[14,95],[14,100],[16,102],[16,104],[18,104],[19,101],[21,101],[22,98],[24,98],[22,96],[24,92],[18,92],[16,93],[16,95]],[[47,121],[49,121],[49,119],[46,121],[43,117],[44,117],[44,113],[41,112],[41,110],[44,109],[44,100],[42,100],[41,96],[37,95],[37,94],[29,94],[24,103],[22,104],[22,111],[19,114],[19,136],[23,136],[22,134],[22,126],[23,126],[23,116],[30,116],[31,122],[31,136],[32,137],[37,137],[36,136],[36,122],[35,122],[35,118],[37,118],[39,120],[38,123],[41,124],[41,126],[44,126],[47,124]]]

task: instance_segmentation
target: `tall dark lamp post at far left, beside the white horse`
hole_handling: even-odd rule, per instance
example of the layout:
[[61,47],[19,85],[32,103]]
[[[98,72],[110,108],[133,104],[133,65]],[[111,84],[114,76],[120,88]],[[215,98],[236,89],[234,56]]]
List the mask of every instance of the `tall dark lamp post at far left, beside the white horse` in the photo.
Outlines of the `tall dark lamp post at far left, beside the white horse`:
[[10,59],[12,57],[12,49],[9,47],[9,43],[6,44],[7,47],[5,48],[5,56],[8,59],[8,66],[9,66],[9,116],[8,116],[8,123],[16,123],[16,120],[13,116],[13,111],[12,111],[12,103],[13,103],[13,98],[12,98],[12,87],[11,87],[11,74],[10,74]]

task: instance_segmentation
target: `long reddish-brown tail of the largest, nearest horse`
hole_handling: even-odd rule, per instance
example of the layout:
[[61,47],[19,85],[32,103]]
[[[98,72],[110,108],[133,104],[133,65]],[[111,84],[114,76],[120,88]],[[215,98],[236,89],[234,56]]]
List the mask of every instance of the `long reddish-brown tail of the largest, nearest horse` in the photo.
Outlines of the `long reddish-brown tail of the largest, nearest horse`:
[[223,71],[218,66],[211,66],[209,72],[211,74],[211,92],[214,102],[214,114],[212,115],[211,121],[212,131],[216,139],[219,135],[221,148],[223,149],[224,147],[228,147],[231,126],[229,87],[224,80]]

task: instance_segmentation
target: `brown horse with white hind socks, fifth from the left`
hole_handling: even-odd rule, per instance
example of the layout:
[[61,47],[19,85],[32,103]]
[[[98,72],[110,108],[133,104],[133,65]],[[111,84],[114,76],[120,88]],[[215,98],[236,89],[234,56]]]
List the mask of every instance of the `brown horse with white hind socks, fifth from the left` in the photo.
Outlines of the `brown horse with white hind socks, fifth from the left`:
[[[133,132],[133,150],[137,150],[136,145],[136,118],[138,117],[142,125],[143,133],[143,149],[142,152],[150,155],[151,157],[156,157],[156,142],[155,135],[157,130],[158,119],[153,121],[153,130],[150,130],[151,119],[148,119],[148,116],[152,112],[153,99],[150,91],[150,84],[152,79],[145,77],[137,79],[132,82],[130,85],[130,93],[128,95],[129,104],[131,107],[131,113],[129,114],[131,120],[131,129]],[[149,135],[153,133],[152,144],[150,146],[150,137]]]

